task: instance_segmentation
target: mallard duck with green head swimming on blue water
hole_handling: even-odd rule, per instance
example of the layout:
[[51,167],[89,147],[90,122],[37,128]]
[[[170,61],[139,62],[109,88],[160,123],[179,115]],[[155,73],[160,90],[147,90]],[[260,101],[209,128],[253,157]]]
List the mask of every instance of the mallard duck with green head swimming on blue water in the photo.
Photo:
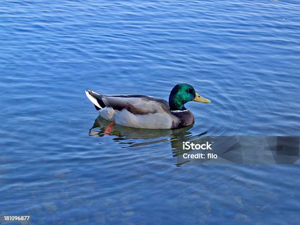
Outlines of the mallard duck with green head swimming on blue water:
[[147,95],[101,95],[92,90],[85,92],[100,116],[119,125],[148,128],[175,129],[194,123],[194,115],[184,107],[189,101],[210,103],[196,93],[190,84],[176,84],[169,102]]

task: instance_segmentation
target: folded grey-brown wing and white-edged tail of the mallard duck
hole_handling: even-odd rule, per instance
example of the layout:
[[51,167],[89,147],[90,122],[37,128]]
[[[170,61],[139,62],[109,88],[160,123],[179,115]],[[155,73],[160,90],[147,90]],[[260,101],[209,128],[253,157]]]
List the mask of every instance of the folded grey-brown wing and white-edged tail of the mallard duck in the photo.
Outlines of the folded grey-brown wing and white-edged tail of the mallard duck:
[[97,110],[112,107],[115,110],[126,109],[139,115],[170,113],[168,101],[147,95],[100,95],[91,90],[86,94]]

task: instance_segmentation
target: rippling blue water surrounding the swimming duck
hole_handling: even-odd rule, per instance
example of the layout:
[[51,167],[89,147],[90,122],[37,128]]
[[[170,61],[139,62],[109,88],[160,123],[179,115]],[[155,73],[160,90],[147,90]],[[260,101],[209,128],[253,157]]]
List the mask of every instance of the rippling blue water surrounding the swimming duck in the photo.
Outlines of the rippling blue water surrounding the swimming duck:
[[[299,166],[179,166],[172,142],[299,136],[299,19],[293,0],[1,1],[0,214],[299,224]],[[188,103],[195,125],[170,133],[103,135],[84,94],[168,99],[180,82],[212,103]]]

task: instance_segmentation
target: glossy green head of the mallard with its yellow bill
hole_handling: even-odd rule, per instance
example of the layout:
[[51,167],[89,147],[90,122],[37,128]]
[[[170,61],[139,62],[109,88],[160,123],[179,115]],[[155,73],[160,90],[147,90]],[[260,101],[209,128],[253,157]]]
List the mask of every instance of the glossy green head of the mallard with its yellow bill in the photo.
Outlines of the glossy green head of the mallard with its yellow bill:
[[170,110],[185,110],[184,104],[189,101],[210,103],[211,101],[200,97],[190,84],[176,84],[169,96]]

